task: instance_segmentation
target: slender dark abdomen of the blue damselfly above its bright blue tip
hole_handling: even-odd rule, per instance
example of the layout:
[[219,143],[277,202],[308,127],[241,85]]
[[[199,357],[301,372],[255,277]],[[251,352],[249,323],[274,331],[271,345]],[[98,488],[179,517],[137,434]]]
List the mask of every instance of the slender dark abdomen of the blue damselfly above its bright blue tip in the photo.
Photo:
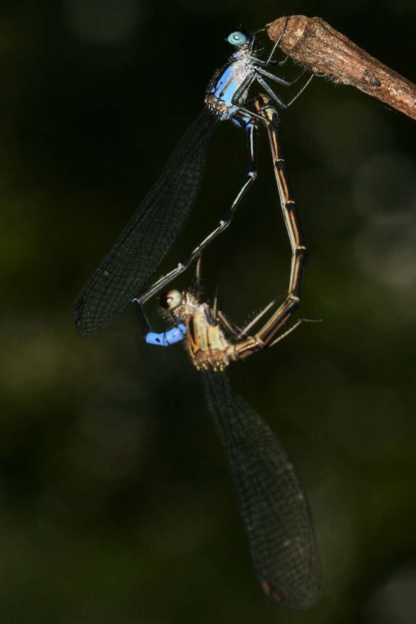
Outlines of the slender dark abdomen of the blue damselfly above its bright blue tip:
[[212,230],[212,232],[208,236],[206,236],[206,238],[204,238],[204,240],[202,240],[201,243],[199,243],[199,245],[193,251],[191,251],[191,253],[186,256],[186,258],[182,260],[182,262],[180,262],[176,268],[159,278],[159,280],[157,280],[146,291],[137,295],[137,300],[141,301],[141,303],[144,303],[149,298],[151,298],[151,296],[153,296],[155,293],[161,290],[161,288],[163,288],[170,281],[176,278],[177,275],[180,275],[181,273],[186,271],[188,266],[190,266],[192,262],[194,262],[196,258],[201,255],[201,252],[214,240],[214,238],[216,238],[221,232],[223,232],[223,230],[225,230],[225,228],[230,225],[232,217],[234,217],[234,213],[239,207],[242,198],[254,182],[255,178],[257,178],[257,162],[255,158],[255,140],[257,129],[255,127],[254,121],[249,122],[246,125],[245,130],[247,134],[247,155],[249,159],[249,172],[247,173],[247,178],[240,188],[239,192],[237,193],[234,202],[232,202],[232,205],[230,206],[227,213],[224,215],[224,218],[220,220],[217,227]]

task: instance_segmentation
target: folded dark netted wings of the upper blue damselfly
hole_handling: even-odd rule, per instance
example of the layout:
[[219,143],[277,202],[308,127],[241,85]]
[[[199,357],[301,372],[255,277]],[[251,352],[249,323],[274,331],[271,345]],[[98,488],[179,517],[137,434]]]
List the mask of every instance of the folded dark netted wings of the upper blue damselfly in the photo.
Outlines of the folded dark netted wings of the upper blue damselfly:
[[182,232],[201,186],[207,144],[219,124],[219,117],[204,107],[82,288],[74,306],[76,328],[82,336],[96,336],[119,316]]

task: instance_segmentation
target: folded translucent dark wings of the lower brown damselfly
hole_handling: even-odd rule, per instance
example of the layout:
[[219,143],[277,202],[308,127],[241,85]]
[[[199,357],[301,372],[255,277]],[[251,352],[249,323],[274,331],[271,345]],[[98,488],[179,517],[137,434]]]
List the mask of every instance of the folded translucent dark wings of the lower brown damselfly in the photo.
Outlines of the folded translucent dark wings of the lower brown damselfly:
[[208,370],[202,376],[259,581],[285,607],[306,609],[320,590],[320,559],[295,467],[225,373]]

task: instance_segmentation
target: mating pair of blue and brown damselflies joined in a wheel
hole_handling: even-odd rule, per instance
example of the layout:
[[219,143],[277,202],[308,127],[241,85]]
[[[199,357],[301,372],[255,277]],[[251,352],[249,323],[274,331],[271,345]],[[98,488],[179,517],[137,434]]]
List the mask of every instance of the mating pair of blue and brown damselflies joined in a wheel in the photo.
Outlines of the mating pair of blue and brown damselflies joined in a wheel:
[[[227,39],[235,46],[234,54],[210,82],[204,109],[179,141],[161,177],[82,289],[75,305],[75,319],[83,336],[95,336],[134,300],[147,341],[171,344],[186,338],[192,362],[204,376],[208,406],[227,453],[262,588],[287,607],[307,608],[319,592],[320,565],[304,491],[286,452],[262,419],[232,392],[224,370],[229,361],[244,359],[282,338],[285,334],[277,337],[277,333],[299,306],[306,249],[280,153],[280,122],[275,105],[285,108],[292,104],[310,79],[284,104],[265,79],[290,86],[303,72],[288,82],[265,69],[287,61],[287,57],[282,61],[272,59],[279,41],[263,60],[256,56],[260,50],[255,46],[255,35],[249,37],[242,31],[233,31]],[[255,82],[267,95],[250,99],[249,90]],[[207,144],[220,122],[226,119],[245,130],[249,156],[247,178],[219,225],[186,260],[146,288],[150,276],[184,227],[201,185]],[[199,303],[191,291],[182,295],[170,291],[164,301],[176,325],[166,332],[149,333],[142,304],[186,270],[229,225],[242,197],[257,177],[255,139],[260,126],[267,128],[292,247],[287,298],[262,328],[250,336],[248,331],[253,323],[235,333],[216,304],[210,308]],[[272,305],[267,306],[264,314]]]

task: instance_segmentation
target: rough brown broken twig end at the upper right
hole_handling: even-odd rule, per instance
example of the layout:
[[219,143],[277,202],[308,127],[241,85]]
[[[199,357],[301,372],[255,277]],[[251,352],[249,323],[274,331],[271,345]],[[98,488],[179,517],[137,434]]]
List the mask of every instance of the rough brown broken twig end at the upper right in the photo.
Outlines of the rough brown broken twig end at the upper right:
[[320,17],[279,17],[267,32],[294,61],[314,74],[350,84],[416,119],[416,85],[335,31]]

